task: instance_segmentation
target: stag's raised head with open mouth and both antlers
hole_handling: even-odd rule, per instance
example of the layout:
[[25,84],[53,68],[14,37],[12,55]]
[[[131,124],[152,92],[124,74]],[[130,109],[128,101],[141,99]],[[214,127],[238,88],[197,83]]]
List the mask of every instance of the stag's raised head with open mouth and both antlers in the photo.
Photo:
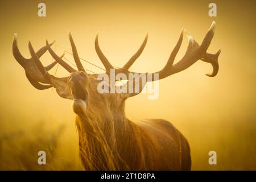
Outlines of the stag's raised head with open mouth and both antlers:
[[[192,64],[194,64],[197,60],[202,60],[212,64],[213,72],[211,74],[207,74],[207,76],[216,76],[218,73],[218,55],[220,55],[220,50],[215,54],[207,53],[207,49],[214,35],[215,24],[215,22],[212,23],[200,46],[186,30],[182,29],[179,40],[177,41],[175,48],[171,52],[167,64],[162,70],[155,72],[159,74],[158,79],[160,80],[174,73],[183,71],[184,69],[187,69]],[[176,64],[174,64],[174,60],[177,52],[180,49],[184,33],[188,36],[188,48],[183,58]],[[86,116],[88,113],[111,113],[112,111],[117,110],[121,110],[123,112],[124,101],[126,100],[126,98],[135,96],[137,93],[98,93],[97,85],[100,82],[100,80],[97,79],[98,75],[86,73],[84,67],[81,64],[75,43],[70,32],[69,40],[71,42],[73,58],[75,60],[78,70],[72,68],[70,65],[65,63],[65,61],[62,59],[63,55],[56,55],[56,53],[51,48],[54,42],[48,43],[47,40],[46,46],[40,48],[37,52],[34,51],[34,48],[29,42],[28,49],[30,50],[31,58],[25,59],[19,52],[19,49],[17,47],[17,35],[15,34],[13,41],[13,55],[18,63],[24,68],[28,81],[30,81],[30,83],[36,89],[43,90],[51,88],[53,86],[60,97],[73,100],[73,111],[75,111],[76,114],[79,114],[80,116]],[[147,36],[144,39],[141,47],[131,57],[131,59],[127,61],[127,63],[122,68],[115,69],[115,74],[124,73],[128,76],[130,73],[134,73],[130,72],[129,68],[134,63],[134,61],[141,55],[144,47],[146,46],[146,43]],[[109,74],[110,69],[114,69],[114,67],[112,64],[110,64],[104,53],[102,53],[98,45],[98,35],[96,36],[95,40],[95,49],[97,55],[100,57],[100,60],[105,67],[106,74]],[[55,59],[55,61],[52,64],[44,67],[39,59],[47,50],[49,51],[53,59]],[[51,69],[57,63],[64,67],[70,73],[70,75],[61,78],[50,75],[47,71],[49,71],[49,69]],[[151,81],[155,80],[153,79]],[[129,82],[122,86],[129,86]],[[143,86],[144,85],[141,85],[140,91],[142,90]]]

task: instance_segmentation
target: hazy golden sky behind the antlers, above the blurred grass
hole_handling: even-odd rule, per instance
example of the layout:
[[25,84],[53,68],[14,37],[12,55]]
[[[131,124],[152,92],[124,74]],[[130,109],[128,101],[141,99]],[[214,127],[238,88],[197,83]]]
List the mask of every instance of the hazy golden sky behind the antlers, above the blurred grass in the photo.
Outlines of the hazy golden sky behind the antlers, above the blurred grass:
[[[11,52],[14,33],[18,34],[20,51],[30,57],[28,40],[35,49],[44,46],[46,39],[56,40],[53,48],[59,55],[71,49],[67,34],[71,30],[80,57],[100,67],[103,65],[94,50],[97,32],[102,51],[117,67],[130,59],[148,33],[146,48],[131,71],[154,72],[166,64],[181,28],[186,28],[200,44],[213,20],[216,32],[208,52],[222,50],[218,75],[205,76],[212,67],[198,61],[161,80],[158,100],[148,100],[144,94],[130,98],[126,102],[127,117],[167,119],[185,134],[201,124],[246,126],[255,121],[255,1],[214,1],[217,17],[208,16],[212,1],[43,1],[47,16],[42,18],[37,14],[39,2],[0,2],[0,133],[23,125],[19,119],[29,124],[53,118],[59,123],[70,120],[75,125],[70,100],[60,98],[52,89],[36,90],[27,81]],[[184,37],[176,61],[186,47]],[[52,61],[48,53],[41,60],[44,65]],[[88,63],[83,65],[102,72]],[[55,71],[56,67],[51,73]],[[67,75],[59,67],[56,76]]]

